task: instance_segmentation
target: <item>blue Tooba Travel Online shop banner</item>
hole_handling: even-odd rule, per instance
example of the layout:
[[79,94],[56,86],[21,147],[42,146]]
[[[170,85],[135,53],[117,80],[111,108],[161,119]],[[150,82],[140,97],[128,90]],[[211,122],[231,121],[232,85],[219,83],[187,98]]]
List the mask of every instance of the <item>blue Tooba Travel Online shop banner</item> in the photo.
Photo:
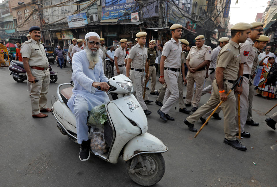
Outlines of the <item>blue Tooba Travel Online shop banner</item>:
[[102,7],[102,20],[108,19],[120,19],[120,20],[128,20],[130,19],[130,14],[124,15],[125,12],[132,10],[135,11],[134,8],[135,2],[131,3],[122,3],[118,5],[110,5],[106,7]]

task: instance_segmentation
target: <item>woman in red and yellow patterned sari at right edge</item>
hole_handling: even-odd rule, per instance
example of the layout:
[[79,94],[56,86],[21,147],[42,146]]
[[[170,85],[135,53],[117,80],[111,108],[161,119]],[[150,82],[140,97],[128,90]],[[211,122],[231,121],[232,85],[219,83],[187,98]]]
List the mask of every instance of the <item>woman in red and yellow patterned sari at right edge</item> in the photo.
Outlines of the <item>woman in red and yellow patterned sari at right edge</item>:
[[274,84],[267,84],[267,76],[272,64],[275,63],[274,57],[269,57],[266,63],[263,60],[259,62],[260,66],[263,66],[263,70],[260,77],[260,82],[257,89],[257,96],[266,96],[266,99],[276,99],[274,96]]

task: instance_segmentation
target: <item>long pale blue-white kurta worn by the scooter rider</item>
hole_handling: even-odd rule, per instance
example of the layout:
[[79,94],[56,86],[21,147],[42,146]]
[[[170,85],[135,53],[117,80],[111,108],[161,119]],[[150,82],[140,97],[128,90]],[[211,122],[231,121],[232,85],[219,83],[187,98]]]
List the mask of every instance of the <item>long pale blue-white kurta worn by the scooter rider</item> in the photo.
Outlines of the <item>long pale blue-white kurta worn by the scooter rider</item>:
[[67,105],[74,113],[74,99],[79,95],[85,98],[88,103],[88,110],[92,110],[94,106],[101,105],[109,101],[106,92],[92,87],[95,82],[108,82],[109,80],[104,75],[102,66],[102,58],[99,57],[99,62],[96,63],[94,69],[89,69],[89,61],[85,50],[79,51],[73,55],[72,58],[72,79],[74,87],[72,89],[73,95],[68,100]]

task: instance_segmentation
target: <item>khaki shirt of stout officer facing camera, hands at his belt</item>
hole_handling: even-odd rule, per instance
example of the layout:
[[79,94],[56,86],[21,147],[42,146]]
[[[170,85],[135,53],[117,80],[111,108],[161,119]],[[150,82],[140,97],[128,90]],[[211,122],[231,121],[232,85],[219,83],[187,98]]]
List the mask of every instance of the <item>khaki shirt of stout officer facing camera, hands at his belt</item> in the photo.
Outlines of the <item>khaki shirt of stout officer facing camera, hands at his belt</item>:
[[211,60],[211,51],[211,47],[205,44],[203,44],[200,49],[198,49],[196,46],[191,47],[189,54],[187,55],[189,66],[191,68],[196,68],[205,60]]

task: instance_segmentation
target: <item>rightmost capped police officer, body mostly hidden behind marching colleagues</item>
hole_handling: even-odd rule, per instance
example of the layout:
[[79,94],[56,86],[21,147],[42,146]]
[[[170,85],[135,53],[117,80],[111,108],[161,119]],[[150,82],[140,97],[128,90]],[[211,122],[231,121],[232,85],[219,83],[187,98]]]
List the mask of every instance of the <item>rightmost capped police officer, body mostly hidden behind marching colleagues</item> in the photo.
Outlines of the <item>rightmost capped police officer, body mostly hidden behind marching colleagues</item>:
[[[252,120],[252,102],[253,102],[253,96],[254,96],[254,85],[253,85],[253,79],[255,77],[255,70],[259,64],[259,54],[260,51],[259,49],[263,49],[264,47],[266,47],[267,42],[269,41],[269,37],[265,36],[265,35],[261,35],[259,37],[259,39],[256,39],[253,45],[253,49],[254,49],[254,60],[253,60],[253,66],[251,69],[251,74],[249,76],[249,96],[248,96],[248,114],[247,114],[247,120],[246,120],[246,124],[251,123]],[[253,124],[253,123],[252,123]]]

